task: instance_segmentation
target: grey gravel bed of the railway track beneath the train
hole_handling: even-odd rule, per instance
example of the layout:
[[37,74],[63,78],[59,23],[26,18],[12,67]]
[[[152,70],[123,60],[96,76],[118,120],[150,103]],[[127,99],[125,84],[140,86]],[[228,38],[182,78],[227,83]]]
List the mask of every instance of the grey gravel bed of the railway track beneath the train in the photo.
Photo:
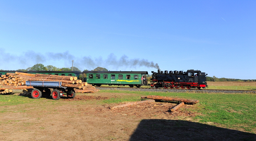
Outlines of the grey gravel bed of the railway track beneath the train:
[[242,91],[242,90],[187,90],[187,89],[148,89],[148,88],[107,88],[97,87],[99,90],[114,90],[114,91],[152,91],[152,92],[195,92],[195,93],[256,93],[256,91]]

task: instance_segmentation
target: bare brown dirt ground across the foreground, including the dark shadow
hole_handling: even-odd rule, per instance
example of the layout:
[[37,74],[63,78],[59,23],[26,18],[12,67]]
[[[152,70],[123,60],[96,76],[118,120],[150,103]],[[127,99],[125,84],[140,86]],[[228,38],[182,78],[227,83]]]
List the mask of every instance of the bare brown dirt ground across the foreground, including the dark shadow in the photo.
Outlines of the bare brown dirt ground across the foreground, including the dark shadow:
[[[0,140],[255,140],[255,134],[200,124],[192,121],[198,105],[178,102],[154,102],[110,109],[118,104],[94,104],[120,97],[122,93],[76,95],[61,98],[58,103],[2,106]],[[85,104],[84,104],[85,103]],[[120,103],[124,104],[124,103]]]

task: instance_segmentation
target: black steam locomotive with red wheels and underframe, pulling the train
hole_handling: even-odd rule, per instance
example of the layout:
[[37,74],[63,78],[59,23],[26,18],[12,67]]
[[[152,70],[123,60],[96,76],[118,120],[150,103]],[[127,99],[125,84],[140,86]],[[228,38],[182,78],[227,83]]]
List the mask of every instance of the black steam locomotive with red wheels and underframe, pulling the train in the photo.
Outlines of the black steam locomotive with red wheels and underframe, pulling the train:
[[201,89],[207,87],[205,72],[200,70],[187,70],[186,71],[168,71],[164,72],[158,70],[158,72],[151,71],[151,87],[155,88],[182,88],[191,89],[197,88]]

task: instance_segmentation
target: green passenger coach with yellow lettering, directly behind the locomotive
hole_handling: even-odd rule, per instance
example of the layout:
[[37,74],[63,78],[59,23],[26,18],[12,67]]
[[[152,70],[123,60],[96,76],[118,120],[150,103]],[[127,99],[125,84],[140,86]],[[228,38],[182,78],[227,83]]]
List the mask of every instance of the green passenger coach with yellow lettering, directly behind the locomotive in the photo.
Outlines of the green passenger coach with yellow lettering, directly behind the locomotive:
[[147,81],[141,79],[147,76],[148,71],[83,71],[86,73],[85,81],[93,86],[117,85],[140,87],[147,85]]

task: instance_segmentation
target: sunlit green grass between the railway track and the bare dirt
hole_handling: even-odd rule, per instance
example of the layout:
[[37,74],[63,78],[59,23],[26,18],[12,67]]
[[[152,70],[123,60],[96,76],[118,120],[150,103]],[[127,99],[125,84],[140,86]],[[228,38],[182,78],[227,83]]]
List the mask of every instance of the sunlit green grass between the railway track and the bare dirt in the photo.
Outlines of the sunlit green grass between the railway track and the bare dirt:
[[[118,98],[98,100],[97,104],[121,103],[128,101],[140,101],[140,96],[160,95],[186,99],[197,99],[196,109],[189,109],[197,112],[193,120],[203,124],[235,129],[256,133],[256,94],[233,94],[233,93],[173,93],[173,92],[145,92],[145,91],[110,91],[101,90],[97,95],[104,96],[104,93],[124,93]],[[77,93],[79,95],[79,93]],[[62,100],[51,100],[46,98],[32,99],[18,95],[0,95],[0,113],[7,112],[5,106],[19,105],[26,107],[26,104],[34,103],[40,105],[63,104]],[[90,104],[90,101],[70,101],[72,104]],[[95,103],[94,103],[95,104]],[[182,108],[180,109],[182,110]],[[22,108],[15,112],[25,112]],[[190,117],[191,118],[191,117]]]

